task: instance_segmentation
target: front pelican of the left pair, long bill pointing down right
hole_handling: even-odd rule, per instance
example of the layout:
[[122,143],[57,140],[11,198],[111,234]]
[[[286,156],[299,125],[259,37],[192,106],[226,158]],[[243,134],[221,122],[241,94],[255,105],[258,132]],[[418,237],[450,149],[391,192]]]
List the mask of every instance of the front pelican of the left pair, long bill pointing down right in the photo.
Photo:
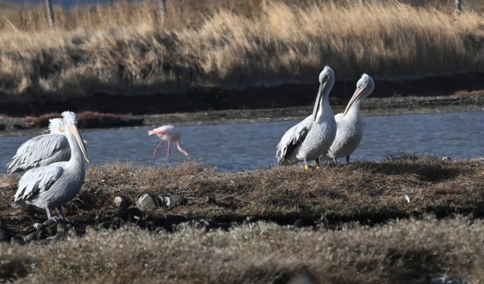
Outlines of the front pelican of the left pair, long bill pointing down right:
[[71,147],[69,161],[52,163],[28,170],[19,181],[13,207],[35,205],[45,208],[50,219],[50,209],[57,207],[62,219],[62,205],[71,201],[81,190],[84,182],[84,159],[89,163],[89,155],[77,129],[74,112],[63,112],[64,130]]

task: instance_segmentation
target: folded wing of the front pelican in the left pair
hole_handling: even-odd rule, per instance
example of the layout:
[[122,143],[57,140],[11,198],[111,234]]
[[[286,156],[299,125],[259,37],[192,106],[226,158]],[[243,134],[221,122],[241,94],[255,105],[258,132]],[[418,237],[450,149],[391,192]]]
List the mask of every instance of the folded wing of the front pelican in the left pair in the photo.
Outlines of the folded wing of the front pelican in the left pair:
[[19,181],[19,189],[14,201],[26,200],[37,192],[49,190],[64,172],[61,167],[63,163],[66,162],[28,170]]

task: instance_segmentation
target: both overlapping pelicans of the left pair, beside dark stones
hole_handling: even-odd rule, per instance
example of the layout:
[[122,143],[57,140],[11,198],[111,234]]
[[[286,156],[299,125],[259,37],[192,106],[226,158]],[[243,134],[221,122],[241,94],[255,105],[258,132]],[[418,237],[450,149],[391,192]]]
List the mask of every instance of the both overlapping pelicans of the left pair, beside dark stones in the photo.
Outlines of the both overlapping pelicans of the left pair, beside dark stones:
[[50,120],[50,134],[34,137],[22,144],[8,163],[8,172],[26,173],[19,181],[13,207],[35,205],[56,208],[66,219],[62,205],[71,201],[84,183],[84,161],[89,163],[74,112],[63,112],[62,119]]

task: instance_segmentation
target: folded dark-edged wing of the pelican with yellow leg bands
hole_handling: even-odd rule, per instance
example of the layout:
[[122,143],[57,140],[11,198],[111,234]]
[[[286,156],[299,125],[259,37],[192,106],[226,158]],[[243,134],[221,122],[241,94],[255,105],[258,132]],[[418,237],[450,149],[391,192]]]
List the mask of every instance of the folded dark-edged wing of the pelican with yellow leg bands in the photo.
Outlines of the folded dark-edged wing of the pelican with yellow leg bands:
[[281,142],[279,142],[276,147],[277,163],[281,164],[282,161],[289,156],[290,152],[304,141],[311,125],[313,125],[313,116],[308,116],[304,121],[292,126],[292,128],[282,136]]

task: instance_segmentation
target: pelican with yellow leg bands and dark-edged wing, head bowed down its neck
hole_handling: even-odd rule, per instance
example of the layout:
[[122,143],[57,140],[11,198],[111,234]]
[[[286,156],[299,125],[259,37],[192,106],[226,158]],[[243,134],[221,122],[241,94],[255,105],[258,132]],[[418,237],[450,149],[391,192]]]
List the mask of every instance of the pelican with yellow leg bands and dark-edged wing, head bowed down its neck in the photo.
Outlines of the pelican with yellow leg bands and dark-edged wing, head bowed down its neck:
[[336,136],[335,116],[328,102],[334,83],[335,73],[326,66],[319,74],[319,92],[313,114],[290,128],[277,145],[279,165],[304,161],[304,168],[308,170],[308,160],[315,160],[317,168],[321,167],[319,156],[328,151]]

